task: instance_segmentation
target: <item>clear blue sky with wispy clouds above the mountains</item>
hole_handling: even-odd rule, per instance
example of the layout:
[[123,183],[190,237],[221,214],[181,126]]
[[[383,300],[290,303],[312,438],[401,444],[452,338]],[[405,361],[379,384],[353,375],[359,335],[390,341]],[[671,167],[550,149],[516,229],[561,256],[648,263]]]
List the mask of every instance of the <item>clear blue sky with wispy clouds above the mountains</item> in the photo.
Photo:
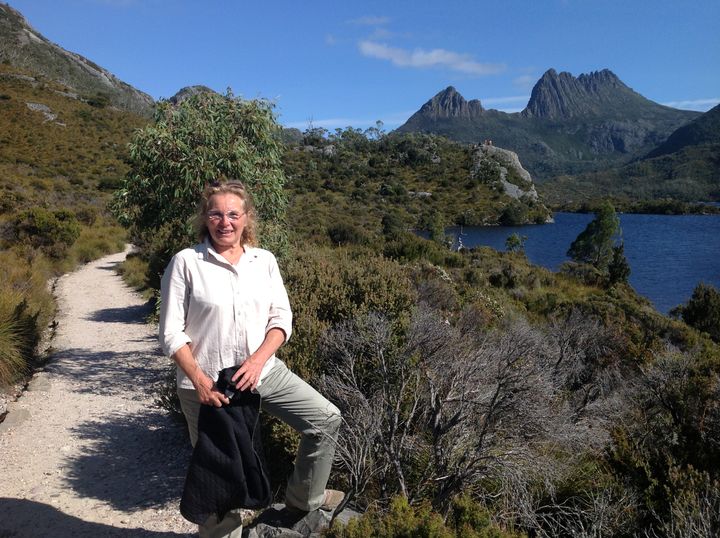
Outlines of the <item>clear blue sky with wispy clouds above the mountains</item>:
[[678,108],[720,102],[718,0],[6,1],[156,99],[231,88],[300,129],[392,129],[449,85],[518,111],[550,68],[608,68]]

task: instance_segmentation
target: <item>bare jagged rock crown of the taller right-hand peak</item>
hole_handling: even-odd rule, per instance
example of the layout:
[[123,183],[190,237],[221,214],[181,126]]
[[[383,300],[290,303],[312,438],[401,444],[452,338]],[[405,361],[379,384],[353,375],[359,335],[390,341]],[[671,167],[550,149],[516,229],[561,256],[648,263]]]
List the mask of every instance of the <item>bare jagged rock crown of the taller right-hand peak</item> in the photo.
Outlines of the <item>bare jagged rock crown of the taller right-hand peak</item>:
[[599,113],[619,103],[644,99],[609,69],[584,73],[577,78],[548,69],[533,87],[524,116],[566,119]]

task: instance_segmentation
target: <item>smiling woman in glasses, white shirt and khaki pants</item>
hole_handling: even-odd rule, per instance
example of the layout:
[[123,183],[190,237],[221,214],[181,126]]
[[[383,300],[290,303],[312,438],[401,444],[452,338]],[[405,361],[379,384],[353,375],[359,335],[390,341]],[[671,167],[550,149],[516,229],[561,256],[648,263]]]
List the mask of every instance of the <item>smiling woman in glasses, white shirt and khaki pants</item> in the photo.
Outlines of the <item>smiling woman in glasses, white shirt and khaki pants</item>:
[[[193,446],[201,405],[229,403],[217,373],[240,365],[233,381],[262,409],[301,434],[285,492],[288,508],[332,510],[342,492],[326,490],[340,426],[337,407],[275,357],[290,337],[292,313],[275,257],[256,247],[256,215],[242,183],[213,184],[198,213],[201,243],[177,253],[162,278],[160,341],[177,363],[178,396]],[[240,517],[210,518],[201,536],[239,536]]]

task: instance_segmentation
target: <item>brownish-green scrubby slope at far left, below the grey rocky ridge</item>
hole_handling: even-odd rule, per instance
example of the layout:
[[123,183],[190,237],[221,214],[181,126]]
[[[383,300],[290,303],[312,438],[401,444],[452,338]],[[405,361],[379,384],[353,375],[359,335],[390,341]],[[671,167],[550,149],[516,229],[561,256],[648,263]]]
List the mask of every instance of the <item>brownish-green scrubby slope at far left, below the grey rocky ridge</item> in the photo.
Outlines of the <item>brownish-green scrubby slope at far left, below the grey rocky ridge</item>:
[[0,64],[0,217],[97,205],[126,173],[127,143],[147,121]]

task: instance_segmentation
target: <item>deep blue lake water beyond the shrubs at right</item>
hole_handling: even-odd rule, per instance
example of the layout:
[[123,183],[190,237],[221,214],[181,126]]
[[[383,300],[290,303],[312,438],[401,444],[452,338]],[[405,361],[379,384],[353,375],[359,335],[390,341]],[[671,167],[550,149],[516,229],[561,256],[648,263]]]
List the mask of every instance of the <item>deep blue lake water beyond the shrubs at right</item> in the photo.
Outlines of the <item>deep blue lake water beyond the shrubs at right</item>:
[[[556,271],[567,261],[570,244],[594,218],[592,214],[556,213],[554,224],[464,227],[466,247],[505,250],[513,233],[527,236],[530,262]],[[687,302],[699,282],[720,288],[720,215],[620,215],[630,284],[660,312]],[[450,233],[457,235],[459,229]]]

